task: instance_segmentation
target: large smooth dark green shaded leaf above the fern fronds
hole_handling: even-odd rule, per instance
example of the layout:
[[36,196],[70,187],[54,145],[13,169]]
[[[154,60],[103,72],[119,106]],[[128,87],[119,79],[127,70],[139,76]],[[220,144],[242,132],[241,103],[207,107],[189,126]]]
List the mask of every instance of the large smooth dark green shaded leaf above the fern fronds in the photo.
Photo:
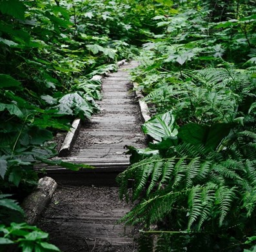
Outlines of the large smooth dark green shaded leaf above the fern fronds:
[[228,123],[215,123],[212,126],[190,123],[179,128],[178,137],[184,142],[203,144],[214,150],[230,133],[231,128],[232,124]]

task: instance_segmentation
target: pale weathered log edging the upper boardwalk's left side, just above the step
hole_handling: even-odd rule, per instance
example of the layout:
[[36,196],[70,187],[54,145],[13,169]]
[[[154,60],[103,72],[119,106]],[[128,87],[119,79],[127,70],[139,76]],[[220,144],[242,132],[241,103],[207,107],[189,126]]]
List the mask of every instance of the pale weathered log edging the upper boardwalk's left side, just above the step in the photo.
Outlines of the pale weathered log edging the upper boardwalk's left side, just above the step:
[[59,150],[59,153],[58,153],[59,157],[66,157],[70,154],[70,151],[75,143],[77,134],[81,126],[80,123],[81,123],[80,119],[75,119],[74,122],[72,123],[70,131],[68,131],[68,133],[66,134],[63,145],[61,146],[61,150]]

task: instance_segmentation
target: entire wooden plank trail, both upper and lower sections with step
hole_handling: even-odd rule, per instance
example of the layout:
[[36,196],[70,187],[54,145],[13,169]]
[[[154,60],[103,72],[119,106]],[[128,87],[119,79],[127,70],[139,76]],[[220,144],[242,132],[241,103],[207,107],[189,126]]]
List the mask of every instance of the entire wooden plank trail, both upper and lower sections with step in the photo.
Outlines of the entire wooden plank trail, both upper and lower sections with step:
[[96,171],[57,176],[59,187],[39,220],[38,226],[50,233],[61,251],[136,251],[133,229],[117,224],[131,206],[119,200],[114,184],[129,164],[124,145],[146,146],[127,71],[135,66],[135,62],[125,64],[103,80],[101,113],[81,128],[74,151],[66,158],[92,164]]

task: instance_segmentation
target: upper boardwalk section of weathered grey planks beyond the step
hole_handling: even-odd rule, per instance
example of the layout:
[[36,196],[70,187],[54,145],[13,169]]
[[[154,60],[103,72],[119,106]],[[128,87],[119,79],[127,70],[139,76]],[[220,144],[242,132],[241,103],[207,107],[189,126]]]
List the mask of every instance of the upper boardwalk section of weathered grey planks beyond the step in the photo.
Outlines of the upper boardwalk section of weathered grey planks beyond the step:
[[125,145],[145,148],[141,132],[141,116],[129,79],[129,68],[136,62],[125,64],[116,73],[103,80],[101,112],[81,128],[72,157],[93,166],[128,166],[129,157],[124,155]]

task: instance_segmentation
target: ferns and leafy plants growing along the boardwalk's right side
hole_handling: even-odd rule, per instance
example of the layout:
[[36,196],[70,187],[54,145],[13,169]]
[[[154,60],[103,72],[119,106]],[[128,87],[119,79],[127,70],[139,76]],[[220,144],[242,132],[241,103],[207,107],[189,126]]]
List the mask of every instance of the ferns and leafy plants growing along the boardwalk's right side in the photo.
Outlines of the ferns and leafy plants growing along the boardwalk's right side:
[[127,146],[132,165],[117,179],[121,197],[139,202],[123,222],[141,228],[139,251],[251,251],[255,3],[162,10],[133,72],[154,116],[143,125],[152,142]]

